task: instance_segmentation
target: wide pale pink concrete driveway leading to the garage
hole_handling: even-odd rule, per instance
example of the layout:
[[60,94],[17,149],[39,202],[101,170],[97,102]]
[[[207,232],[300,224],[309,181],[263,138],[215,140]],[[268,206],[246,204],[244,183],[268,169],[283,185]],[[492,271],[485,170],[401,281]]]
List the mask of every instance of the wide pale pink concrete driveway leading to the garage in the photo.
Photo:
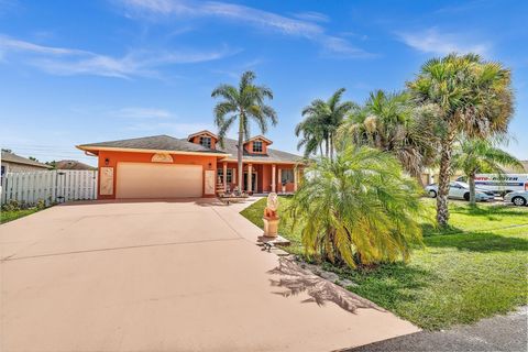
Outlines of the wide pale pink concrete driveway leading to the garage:
[[331,351],[418,331],[262,252],[242,207],[73,204],[0,226],[0,351]]

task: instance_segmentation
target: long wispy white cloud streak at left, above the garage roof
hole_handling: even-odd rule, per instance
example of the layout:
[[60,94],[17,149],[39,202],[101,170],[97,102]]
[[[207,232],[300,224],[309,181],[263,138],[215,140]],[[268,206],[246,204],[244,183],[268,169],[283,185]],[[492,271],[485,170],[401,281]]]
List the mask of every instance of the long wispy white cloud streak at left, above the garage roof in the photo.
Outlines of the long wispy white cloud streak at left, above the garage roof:
[[132,51],[121,57],[67,47],[44,46],[0,35],[0,58],[25,54],[25,63],[55,75],[96,75],[131,78],[157,75],[156,68],[175,64],[209,62],[239,51],[223,46],[216,51]]

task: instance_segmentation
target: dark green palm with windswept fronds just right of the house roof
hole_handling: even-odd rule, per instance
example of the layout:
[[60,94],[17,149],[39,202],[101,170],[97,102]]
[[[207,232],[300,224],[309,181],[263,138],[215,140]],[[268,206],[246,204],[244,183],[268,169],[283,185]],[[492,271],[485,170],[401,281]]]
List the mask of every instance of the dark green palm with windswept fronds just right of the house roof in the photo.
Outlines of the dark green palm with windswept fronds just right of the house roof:
[[341,102],[344,91],[344,88],[338,89],[328,100],[316,99],[302,109],[305,120],[297,124],[295,133],[304,136],[298,147],[305,146],[305,155],[314,153],[315,145],[322,150],[324,143],[324,155],[333,157],[337,131],[346,113],[356,107],[352,101]]

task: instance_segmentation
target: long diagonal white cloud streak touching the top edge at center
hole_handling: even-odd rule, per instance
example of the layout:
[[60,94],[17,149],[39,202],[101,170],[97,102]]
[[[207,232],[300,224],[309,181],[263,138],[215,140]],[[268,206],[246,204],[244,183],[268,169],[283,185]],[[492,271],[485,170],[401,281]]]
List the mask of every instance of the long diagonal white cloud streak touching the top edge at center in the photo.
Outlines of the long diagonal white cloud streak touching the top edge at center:
[[370,53],[355,47],[344,38],[332,36],[318,23],[328,20],[318,12],[297,14],[297,19],[246,6],[193,0],[113,0],[120,3],[129,16],[210,16],[267,29],[289,36],[298,36],[319,43],[328,52],[343,57],[367,57]]

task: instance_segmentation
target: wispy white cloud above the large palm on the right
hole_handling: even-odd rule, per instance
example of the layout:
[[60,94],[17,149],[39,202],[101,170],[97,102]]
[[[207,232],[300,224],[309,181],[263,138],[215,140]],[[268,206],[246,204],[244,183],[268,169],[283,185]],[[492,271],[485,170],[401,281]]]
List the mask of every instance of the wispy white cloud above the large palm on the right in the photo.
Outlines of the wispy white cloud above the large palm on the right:
[[436,28],[414,33],[398,33],[397,35],[402,42],[422,53],[486,54],[491,48],[488,43],[475,43],[464,35],[442,33]]

